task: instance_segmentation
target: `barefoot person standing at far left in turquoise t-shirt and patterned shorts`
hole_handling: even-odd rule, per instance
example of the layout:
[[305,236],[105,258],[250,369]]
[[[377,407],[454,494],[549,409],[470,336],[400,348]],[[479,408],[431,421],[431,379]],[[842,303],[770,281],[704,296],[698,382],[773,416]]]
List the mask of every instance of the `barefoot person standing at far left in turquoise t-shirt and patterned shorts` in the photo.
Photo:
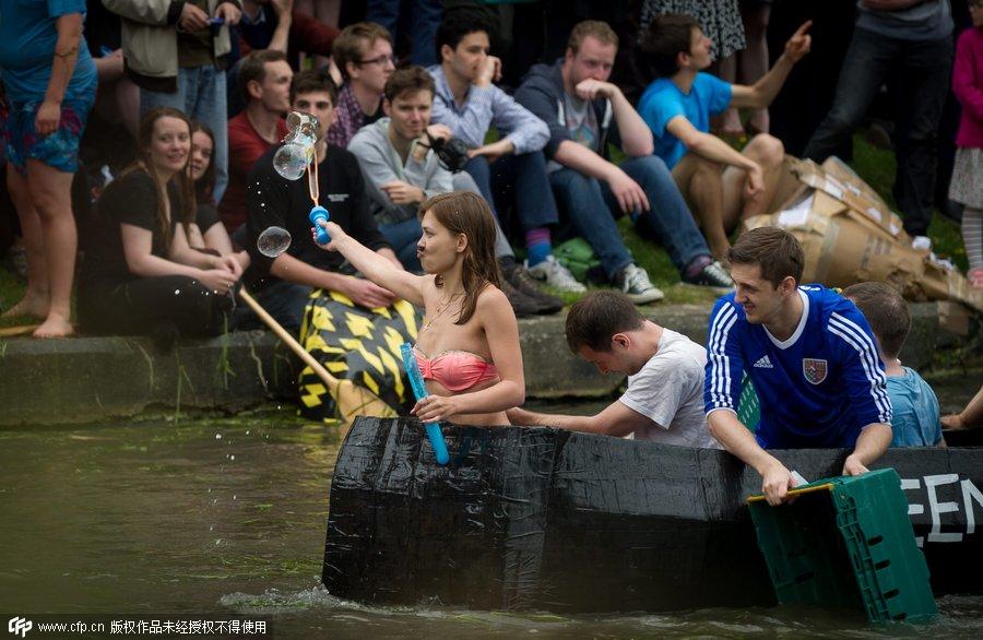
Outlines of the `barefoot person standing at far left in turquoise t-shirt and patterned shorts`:
[[27,249],[27,292],[8,316],[44,319],[34,335],[73,332],[78,236],[71,185],[98,75],[82,37],[84,0],[0,0],[0,121],[8,186]]

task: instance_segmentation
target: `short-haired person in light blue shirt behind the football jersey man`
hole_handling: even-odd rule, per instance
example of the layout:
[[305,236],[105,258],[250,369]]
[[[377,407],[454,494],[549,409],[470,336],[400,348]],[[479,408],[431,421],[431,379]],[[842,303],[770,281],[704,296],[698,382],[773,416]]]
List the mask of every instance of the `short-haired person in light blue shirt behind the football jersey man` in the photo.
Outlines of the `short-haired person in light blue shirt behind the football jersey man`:
[[883,282],[849,286],[843,289],[843,297],[856,305],[877,339],[895,414],[891,447],[945,447],[935,392],[914,369],[902,367],[898,359],[911,330],[904,298]]

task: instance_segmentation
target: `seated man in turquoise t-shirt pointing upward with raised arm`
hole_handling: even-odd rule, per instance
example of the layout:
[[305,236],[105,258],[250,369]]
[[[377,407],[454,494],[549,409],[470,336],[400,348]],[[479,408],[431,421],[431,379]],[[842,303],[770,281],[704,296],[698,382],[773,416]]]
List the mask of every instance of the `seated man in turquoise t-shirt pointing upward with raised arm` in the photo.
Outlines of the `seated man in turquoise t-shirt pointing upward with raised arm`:
[[777,138],[761,133],[737,152],[710,133],[710,117],[729,107],[770,105],[792,67],[809,52],[810,24],[795,32],[774,67],[751,86],[703,72],[712,60],[713,43],[692,17],[667,14],[649,24],[641,61],[659,78],[646,88],[638,111],[652,130],[655,155],[672,169],[718,260],[726,257],[727,233],[738,218],[766,213],[778,187],[784,147]]

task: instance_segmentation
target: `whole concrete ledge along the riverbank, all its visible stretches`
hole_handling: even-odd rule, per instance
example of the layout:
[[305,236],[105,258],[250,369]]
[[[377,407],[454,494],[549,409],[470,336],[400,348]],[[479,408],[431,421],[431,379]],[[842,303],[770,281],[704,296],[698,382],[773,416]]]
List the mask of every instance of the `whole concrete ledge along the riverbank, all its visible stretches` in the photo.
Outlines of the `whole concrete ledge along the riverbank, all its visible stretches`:
[[[935,303],[911,306],[912,331],[901,354],[922,369],[958,337],[939,325]],[[709,306],[650,309],[653,320],[703,344]],[[530,398],[605,396],[620,376],[601,376],[567,347],[564,317],[520,321]],[[293,401],[300,364],[271,333],[238,332],[185,341],[170,354],[143,337],[0,340],[0,426],[72,424],[144,411],[238,412]]]

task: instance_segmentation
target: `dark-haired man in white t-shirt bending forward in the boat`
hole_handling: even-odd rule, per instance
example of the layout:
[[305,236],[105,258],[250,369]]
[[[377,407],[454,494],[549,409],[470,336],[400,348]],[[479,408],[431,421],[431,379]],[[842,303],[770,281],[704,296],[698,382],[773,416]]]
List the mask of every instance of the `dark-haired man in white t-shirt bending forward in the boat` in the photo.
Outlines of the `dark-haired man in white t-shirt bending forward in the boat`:
[[719,449],[707,428],[707,351],[647,320],[625,295],[595,292],[570,308],[567,344],[602,374],[628,374],[628,389],[593,416],[509,410],[513,425],[633,437],[665,445]]

